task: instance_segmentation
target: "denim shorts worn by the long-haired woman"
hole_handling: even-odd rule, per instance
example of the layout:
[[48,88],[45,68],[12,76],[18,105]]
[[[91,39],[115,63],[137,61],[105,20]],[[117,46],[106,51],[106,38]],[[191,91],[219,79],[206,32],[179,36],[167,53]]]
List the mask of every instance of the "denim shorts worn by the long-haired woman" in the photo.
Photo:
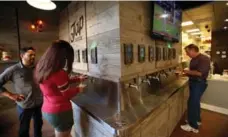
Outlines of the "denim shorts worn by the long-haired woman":
[[55,114],[42,112],[42,115],[58,132],[69,131],[74,124],[72,110]]

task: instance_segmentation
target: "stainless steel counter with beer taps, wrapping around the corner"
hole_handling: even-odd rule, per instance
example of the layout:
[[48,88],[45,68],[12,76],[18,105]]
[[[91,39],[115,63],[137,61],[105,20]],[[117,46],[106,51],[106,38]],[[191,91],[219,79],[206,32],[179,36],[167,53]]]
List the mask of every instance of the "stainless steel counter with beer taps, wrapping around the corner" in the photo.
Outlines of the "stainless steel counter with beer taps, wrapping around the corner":
[[[122,89],[122,91],[120,91],[120,87],[123,86],[123,83],[101,80],[91,84],[91,81],[93,80],[89,79],[86,82],[87,89],[84,93],[74,97],[72,103],[86,111],[110,132],[115,133],[137,124],[153,113],[158,106],[182,88],[188,79],[178,78],[156,90],[148,89],[148,86],[147,89],[143,88],[145,85],[142,84],[138,90],[130,88],[130,90]],[[137,99],[133,99],[131,92],[137,96]],[[124,109],[119,109],[119,104],[116,102],[121,98],[128,104]]]

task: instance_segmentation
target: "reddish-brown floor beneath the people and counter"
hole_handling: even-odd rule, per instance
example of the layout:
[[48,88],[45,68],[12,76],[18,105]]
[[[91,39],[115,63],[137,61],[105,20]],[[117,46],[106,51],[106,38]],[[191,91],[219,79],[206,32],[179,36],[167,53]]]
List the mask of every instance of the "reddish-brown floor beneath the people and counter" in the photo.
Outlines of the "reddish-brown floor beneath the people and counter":
[[[185,117],[174,130],[171,137],[228,137],[228,116],[214,112],[202,111],[203,125],[200,127],[200,133],[186,133],[180,129],[180,124],[184,122]],[[10,121],[10,122],[9,122]],[[0,115],[0,137],[17,137],[18,120],[15,108],[9,109]],[[31,137],[33,137],[31,122]],[[54,137],[52,127],[44,121],[43,137]]]

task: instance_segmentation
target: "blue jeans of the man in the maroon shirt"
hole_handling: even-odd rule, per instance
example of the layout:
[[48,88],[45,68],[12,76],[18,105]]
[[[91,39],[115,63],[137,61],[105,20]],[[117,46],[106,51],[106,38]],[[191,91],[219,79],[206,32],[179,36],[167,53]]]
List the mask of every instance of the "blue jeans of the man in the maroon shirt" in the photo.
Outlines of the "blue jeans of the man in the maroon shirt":
[[190,96],[188,99],[188,122],[189,125],[195,129],[198,129],[197,122],[201,122],[200,99],[206,88],[206,80],[199,79],[189,81]]

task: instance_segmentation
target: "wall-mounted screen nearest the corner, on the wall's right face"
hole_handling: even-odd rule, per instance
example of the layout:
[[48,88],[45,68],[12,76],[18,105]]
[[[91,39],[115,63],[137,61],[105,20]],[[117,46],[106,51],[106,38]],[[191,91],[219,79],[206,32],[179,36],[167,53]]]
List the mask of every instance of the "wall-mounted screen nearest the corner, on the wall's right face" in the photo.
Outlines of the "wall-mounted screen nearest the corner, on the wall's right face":
[[133,63],[133,45],[124,44],[124,64],[129,65]]

